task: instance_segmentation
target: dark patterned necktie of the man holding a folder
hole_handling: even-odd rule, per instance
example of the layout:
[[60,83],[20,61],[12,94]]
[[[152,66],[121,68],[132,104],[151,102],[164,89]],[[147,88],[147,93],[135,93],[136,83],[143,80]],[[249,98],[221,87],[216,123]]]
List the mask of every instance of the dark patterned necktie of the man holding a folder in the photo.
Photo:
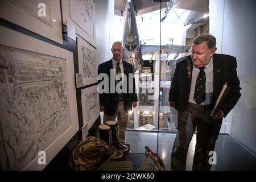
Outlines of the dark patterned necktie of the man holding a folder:
[[196,78],[196,86],[195,86],[195,93],[194,93],[194,101],[197,104],[201,104],[205,101],[205,72],[204,67],[199,68],[200,72]]

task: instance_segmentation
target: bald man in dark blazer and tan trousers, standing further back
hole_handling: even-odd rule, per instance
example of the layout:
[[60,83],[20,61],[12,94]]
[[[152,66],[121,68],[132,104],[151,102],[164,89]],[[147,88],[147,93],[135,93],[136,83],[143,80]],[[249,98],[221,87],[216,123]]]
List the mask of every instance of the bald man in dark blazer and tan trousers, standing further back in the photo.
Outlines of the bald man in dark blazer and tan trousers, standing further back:
[[128,111],[132,110],[132,106],[137,106],[138,98],[135,93],[133,66],[122,59],[125,51],[122,43],[113,43],[111,51],[112,59],[98,66],[99,80],[102,81],[99,84],[102,89],[100,111],[104,111],[104,123],[117,117],[118,139],[125,143]]

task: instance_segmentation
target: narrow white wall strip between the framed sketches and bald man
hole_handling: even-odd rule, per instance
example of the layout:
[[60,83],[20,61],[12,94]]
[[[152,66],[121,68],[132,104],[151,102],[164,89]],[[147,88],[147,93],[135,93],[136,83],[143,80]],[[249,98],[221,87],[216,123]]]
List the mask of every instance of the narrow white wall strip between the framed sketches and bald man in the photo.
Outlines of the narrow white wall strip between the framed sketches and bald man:
[[112,57],[114,0],[95,2],[96,21],[96,64],[99,65]]

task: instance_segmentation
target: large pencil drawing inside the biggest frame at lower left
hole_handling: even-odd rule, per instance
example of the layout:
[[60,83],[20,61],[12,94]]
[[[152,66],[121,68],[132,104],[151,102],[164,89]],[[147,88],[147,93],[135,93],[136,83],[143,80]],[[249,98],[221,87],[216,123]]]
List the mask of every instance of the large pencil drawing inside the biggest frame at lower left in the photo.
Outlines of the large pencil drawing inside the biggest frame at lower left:
[[3,46],[0,65],[1,141],[11,154],[1,151],[2,168],[22,169],[71,126],[67,68],[64,59]]

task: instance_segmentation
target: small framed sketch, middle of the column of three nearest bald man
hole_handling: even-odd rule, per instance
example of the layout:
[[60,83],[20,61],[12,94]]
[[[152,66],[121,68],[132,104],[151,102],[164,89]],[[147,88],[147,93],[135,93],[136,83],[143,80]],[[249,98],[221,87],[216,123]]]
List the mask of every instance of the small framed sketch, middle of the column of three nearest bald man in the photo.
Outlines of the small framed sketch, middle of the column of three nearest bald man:
[[98,82],[96,49],[81,38],[77,37],[77,53],[79,60],[79,73],[82,74],[82,86]]

